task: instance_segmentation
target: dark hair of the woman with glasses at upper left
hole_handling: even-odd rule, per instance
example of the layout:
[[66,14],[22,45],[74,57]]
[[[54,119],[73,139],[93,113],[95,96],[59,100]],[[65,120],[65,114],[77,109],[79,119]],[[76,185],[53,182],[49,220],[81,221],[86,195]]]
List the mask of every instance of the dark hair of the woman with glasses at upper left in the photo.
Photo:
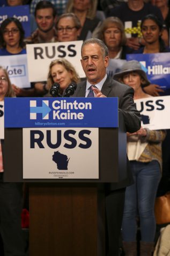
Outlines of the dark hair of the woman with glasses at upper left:
[[10,24],[11,22],[14,22],[16,24],[16,26],[18,27],[19,34],[20,34],[19,46],[21,48],[24,48],[24,46],[25,46],[25,43],[24,43],[25,31],[23,29],[23,25],[20,23],[20,21],[18,19],[13,18],[13,17],[5,19],[1,24],[1,27],[0,27],[0,46],[1,47],[6,47],[6,43],[5,43],[4,38],[3,38],[3,33],[4,33],[4,30],[6,29],[6,26],[8,26],[8,24]]

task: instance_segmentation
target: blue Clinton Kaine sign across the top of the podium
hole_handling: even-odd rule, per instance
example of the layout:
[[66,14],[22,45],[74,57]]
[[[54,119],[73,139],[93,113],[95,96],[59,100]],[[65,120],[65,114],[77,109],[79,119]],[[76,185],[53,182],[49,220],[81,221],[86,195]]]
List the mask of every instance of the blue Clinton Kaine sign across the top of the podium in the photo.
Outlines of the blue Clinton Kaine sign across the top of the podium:
[[118,127],[118,98],[5,98],[10,127]]

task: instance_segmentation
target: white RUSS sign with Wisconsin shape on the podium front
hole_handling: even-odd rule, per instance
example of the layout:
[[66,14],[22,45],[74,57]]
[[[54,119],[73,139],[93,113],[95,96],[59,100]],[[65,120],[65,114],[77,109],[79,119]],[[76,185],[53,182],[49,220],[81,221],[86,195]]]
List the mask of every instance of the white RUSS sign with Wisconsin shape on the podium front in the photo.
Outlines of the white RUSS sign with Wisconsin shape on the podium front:
[[23,178],[98,179],[98,128],[24,128]]

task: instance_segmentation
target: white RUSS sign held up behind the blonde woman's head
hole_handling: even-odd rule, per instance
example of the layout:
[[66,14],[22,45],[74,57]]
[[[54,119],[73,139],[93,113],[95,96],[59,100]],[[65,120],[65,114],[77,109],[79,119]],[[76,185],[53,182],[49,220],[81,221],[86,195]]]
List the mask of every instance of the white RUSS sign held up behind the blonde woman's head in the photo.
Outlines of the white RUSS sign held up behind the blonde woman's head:
[[65,58],[75,67],[80,78],[85,77],[80,59],[83,41],[27,44],[29,81],[46,81],[49,65],[55,59]]

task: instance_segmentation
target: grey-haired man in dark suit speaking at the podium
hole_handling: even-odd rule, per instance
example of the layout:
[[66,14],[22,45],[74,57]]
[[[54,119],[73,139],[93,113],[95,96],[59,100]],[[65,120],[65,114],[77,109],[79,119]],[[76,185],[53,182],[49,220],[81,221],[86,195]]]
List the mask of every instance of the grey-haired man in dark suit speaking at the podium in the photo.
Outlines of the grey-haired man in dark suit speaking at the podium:
[[[127,132],[134,133],[141,127],[141,115],[136,110],[133,100],[134,90],[107,77],[108,61],[108,49],[103,41],[97,38],[84,41],[81,63],[87,80],[79,82],[73,96],[119,97],[119,111],[123,114]],[[130,184],[132,184],[132,176],[129,168],[127,168],[126,179],[119,183],[106,184],[108,256],[119,255],[124,193],[125,187]]]

